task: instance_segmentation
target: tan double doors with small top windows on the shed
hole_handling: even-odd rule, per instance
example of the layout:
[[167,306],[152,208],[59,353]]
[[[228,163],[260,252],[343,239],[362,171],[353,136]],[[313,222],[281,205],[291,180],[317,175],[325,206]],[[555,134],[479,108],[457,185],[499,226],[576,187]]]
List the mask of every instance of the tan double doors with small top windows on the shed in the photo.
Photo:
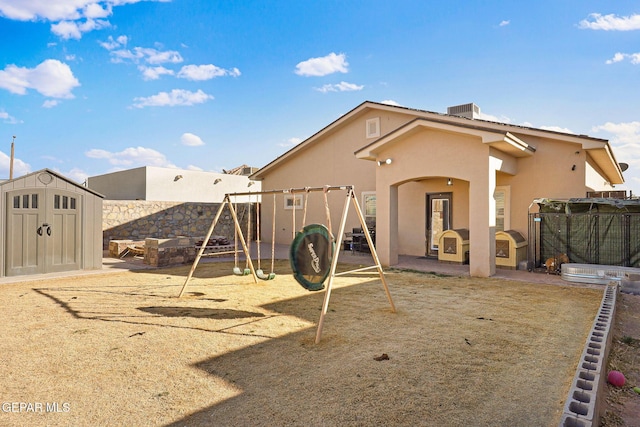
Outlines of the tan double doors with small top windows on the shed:
[[59,189],[7,193],[6,276],[80,268],[79,197]]

